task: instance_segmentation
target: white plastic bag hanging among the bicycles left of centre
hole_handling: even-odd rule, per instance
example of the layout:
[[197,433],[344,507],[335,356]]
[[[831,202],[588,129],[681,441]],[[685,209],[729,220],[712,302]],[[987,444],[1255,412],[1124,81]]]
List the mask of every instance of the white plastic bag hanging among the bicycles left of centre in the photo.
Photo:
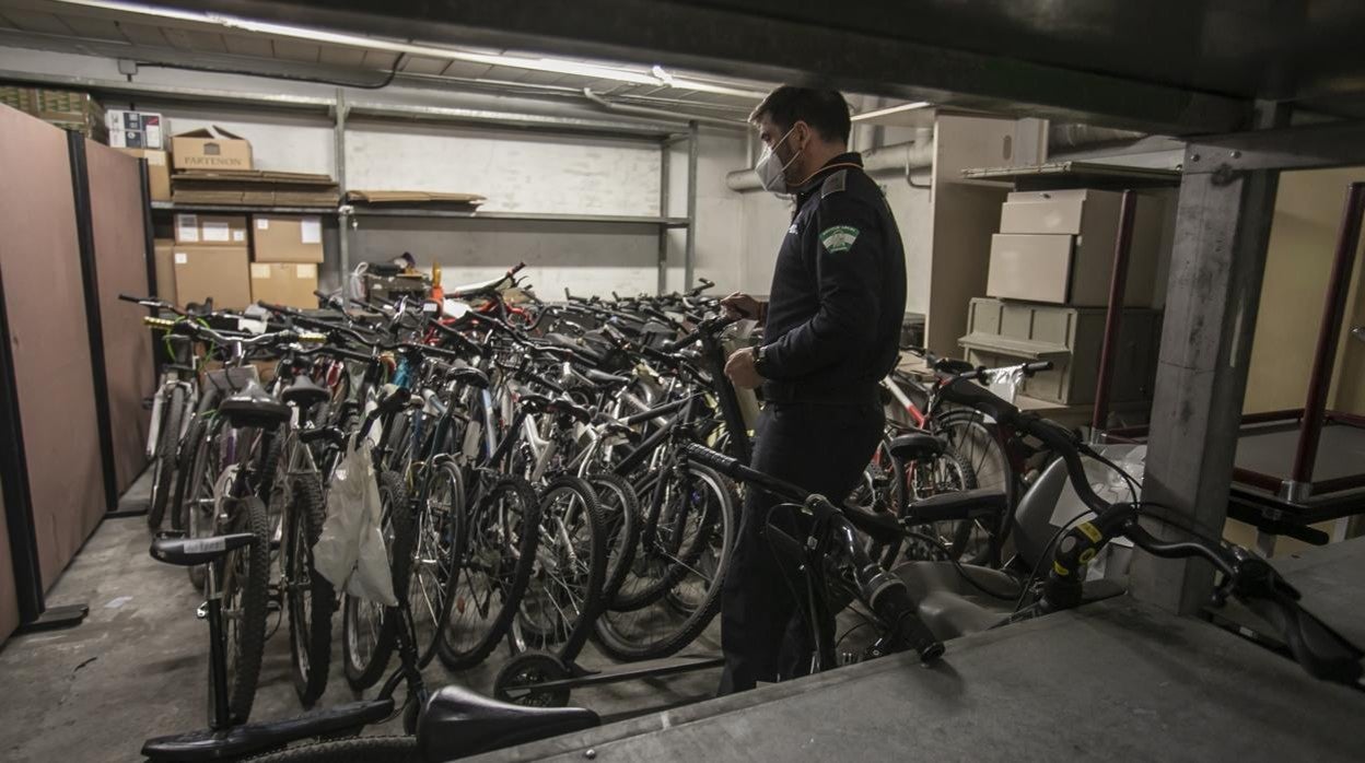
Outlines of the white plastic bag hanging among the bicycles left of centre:
[[328,519],[313,546],[313,565],[352,596],[396,606],[373,449],[369,440],[347,446],[328,490]]

